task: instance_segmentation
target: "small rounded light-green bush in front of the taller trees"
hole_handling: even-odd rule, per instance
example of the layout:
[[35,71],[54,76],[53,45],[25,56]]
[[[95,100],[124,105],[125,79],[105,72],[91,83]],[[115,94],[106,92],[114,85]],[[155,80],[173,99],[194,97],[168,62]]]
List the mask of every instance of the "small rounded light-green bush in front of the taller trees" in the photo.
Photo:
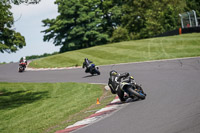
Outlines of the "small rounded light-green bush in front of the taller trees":
[[129,40],[128,30],[122,27],[118,27],[117,29],[115,29],[111,38],[111,42],[121,42],[128,40]]

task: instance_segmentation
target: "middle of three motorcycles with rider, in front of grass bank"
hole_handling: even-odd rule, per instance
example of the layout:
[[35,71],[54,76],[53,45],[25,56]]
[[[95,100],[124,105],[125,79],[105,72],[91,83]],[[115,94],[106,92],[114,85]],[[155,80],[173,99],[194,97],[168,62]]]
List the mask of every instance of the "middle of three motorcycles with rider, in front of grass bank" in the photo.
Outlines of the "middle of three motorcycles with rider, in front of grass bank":
[[83,62],[83,68],[86,67],[85,72],[90,73],[92,75],[97,74],[100,75],[99,67],[95,66],[95,64],[91,64],[92,61],[85,58],[85,61]]

